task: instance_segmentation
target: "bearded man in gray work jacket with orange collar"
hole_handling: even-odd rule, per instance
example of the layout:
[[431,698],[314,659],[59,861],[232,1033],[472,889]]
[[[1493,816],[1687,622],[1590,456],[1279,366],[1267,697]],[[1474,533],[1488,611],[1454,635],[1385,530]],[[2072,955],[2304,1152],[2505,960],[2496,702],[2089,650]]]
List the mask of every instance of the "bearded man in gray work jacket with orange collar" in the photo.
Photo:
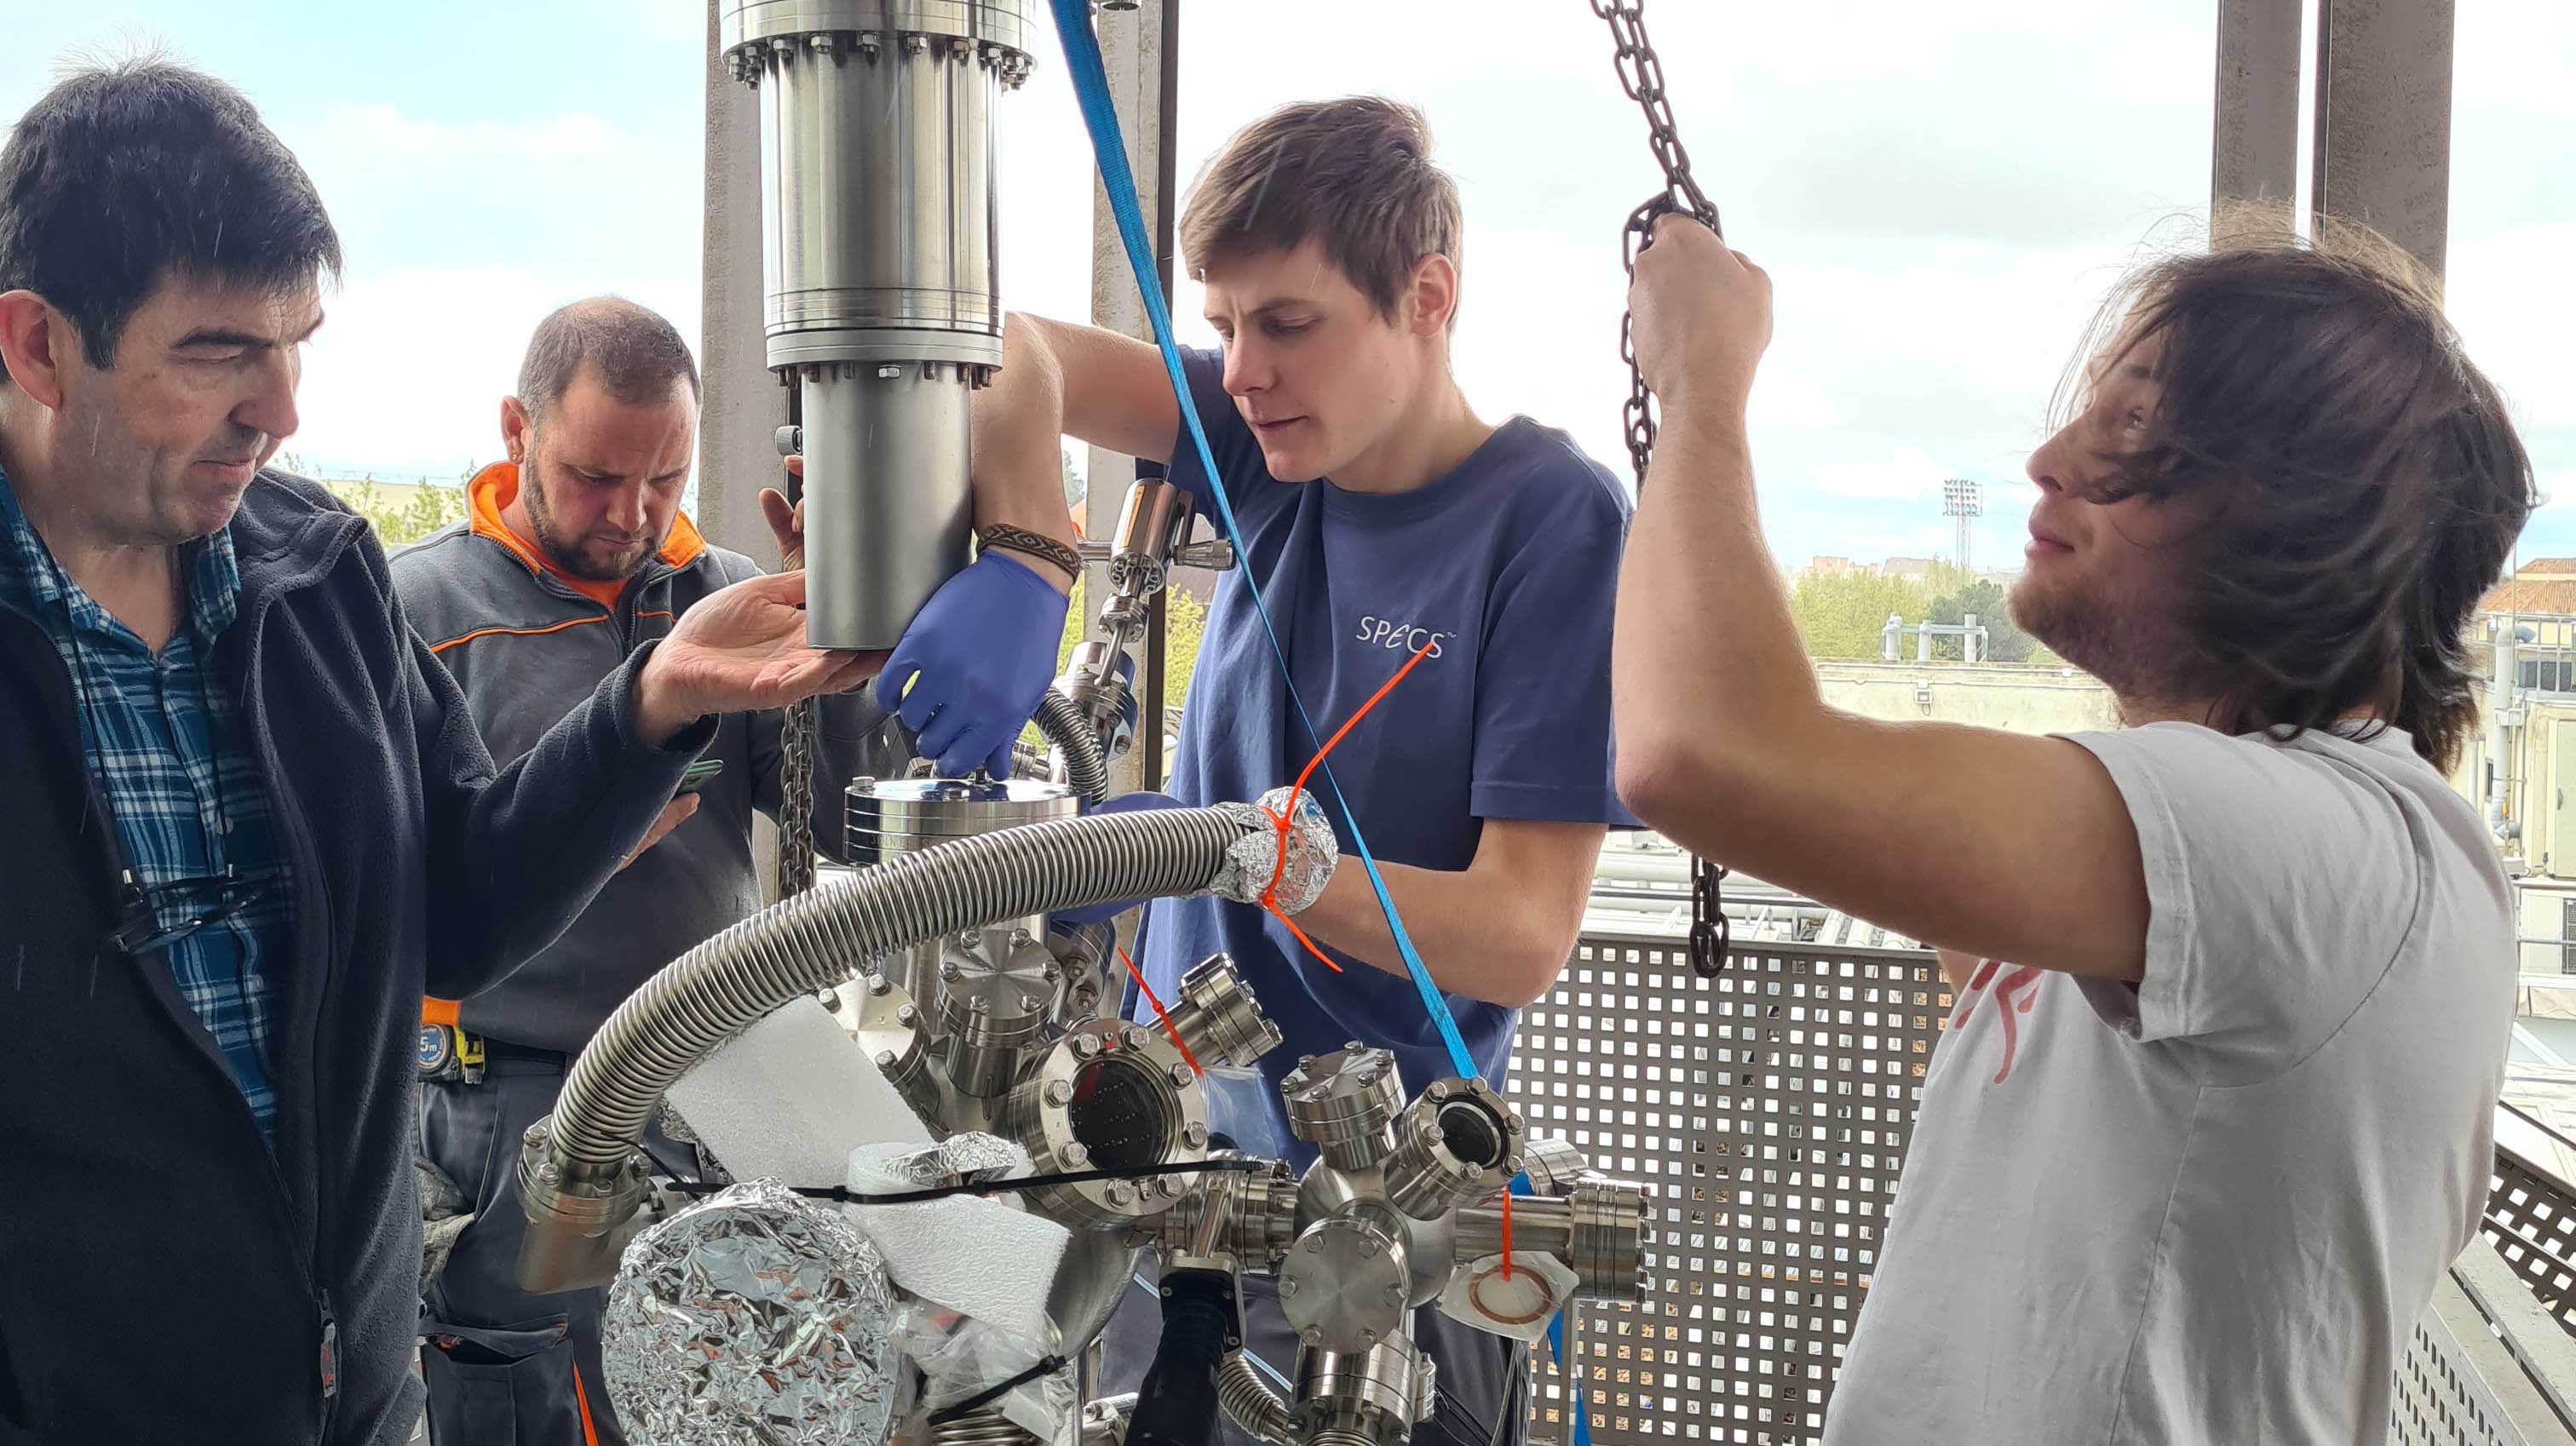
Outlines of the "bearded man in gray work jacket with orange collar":
[[[626,654],[760,566],[708,545],[680,512],[698,368],[654,311],[600,296],[538,322],[500,435],[510,461],[474,476],[466,522],[394,558],[394,589],[456,674],[484,746],[515,759]],[[799,566],[786,499],[762,502],[781,556]],[[909,762],[884,723],[863,692],[817,708],[811,839],[832,857],[842,854],[837,782]],[[724,769],[665,810],[644,852],[554,944],[461,1003],[430,1001],[425,1024],[461,1037],[443,1060],[482,1060],[479,1078],[448,1068],[420,1101],[422,1155],[474,1209],[428,1292],[433,1441],[477,1441],[497,1420],[515,1420],[518,1441],[623,1441],[600,1377],[608,1292],[518,1289],[515,1142],[554,1109],[564,1068],[629,993],[760,908],[750,826],[755,808],[778,818],[778,733],[775,713],[726,718],[701,754]],[[649,1142],[670,1168],[693,1171],[685,1148],[659,1132]]]

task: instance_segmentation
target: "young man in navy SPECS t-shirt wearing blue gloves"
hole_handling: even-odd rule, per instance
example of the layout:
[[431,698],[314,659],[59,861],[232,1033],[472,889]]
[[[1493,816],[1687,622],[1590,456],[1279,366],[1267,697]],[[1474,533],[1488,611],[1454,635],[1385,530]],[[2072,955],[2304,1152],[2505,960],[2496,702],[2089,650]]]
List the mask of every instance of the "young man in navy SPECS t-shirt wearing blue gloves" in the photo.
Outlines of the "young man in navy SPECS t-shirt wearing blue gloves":
[[[974,425],[976,455],[1072,432],[1167,461],[1211,515],[1224,486],[1247,556],[1218,584],[1190,682],[1182,803],[1260,798],[1314,756],[1252,587],[1327,733],[1422,654],[1329,764],[1476,1068],[1502,1083],[1520,1006],[1574,949],[1602,834],[1633,823],[1613,792],[1607,651],[1628,497],[1564,432],[1489,425],[1461,396],[1458,232],[1419,113],[1291,105],[1234,136],[1180,226],[1226,342],[1185,358],[1221,476],[1200,468],[1154,347],[1092,327],[1012,316]],[[1347,857],[1329,785],[1311,787]],[[1157,901],[1144,926],[1164,998],[1229,952],[1285,1034],[1262,1063],[1273,1122],[1234,1122],[1247,1142],[1288,1137],[1275,1086],[1298,1055],[1394,1050],[1406,1094],[1455,1073],[1363,870],[1340,870],[1298,926],[1340,973],[1249,906]],[[1247,1286],[1252,1348],[1291,1369],[1275,1302]],[[1414,1335],[1443,1384],[1427,1441],[1522,1438],[1517,1348],[1427,1310]]]

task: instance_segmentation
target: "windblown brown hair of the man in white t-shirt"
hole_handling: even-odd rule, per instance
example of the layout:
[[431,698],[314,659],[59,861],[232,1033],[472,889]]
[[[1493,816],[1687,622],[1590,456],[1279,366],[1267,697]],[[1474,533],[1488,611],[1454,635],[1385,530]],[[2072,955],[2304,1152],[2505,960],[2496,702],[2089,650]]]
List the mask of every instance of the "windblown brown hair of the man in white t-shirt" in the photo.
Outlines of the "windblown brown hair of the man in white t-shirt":
[[2437,283],[2349,221],[2316,242],[2236,226],[2112,291],[2058,412],[2148,340],[2146,443],[2084,491],[2218,499],[2177,545],[2210,726],[2370,715],[2447,772],[2478,718],[2468,628],[2537,491]]

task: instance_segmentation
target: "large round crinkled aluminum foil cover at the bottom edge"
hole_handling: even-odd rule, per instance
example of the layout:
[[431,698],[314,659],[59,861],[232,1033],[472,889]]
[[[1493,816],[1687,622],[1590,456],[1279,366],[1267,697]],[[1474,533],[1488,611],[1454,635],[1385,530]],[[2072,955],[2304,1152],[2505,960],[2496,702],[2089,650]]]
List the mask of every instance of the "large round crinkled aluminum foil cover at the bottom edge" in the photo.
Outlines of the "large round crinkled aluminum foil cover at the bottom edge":
[[636,1235],[600,1353],[618,1420],[647,1446],[881,1446],[904,1382],[876,1245],[778,1181]]

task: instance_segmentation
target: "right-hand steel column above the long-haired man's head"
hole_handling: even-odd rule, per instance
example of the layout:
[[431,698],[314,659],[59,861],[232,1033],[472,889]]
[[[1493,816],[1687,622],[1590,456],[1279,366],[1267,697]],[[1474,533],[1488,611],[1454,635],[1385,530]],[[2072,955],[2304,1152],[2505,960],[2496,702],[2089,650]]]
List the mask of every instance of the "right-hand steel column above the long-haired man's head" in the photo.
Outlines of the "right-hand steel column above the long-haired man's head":
[[2450,244],[2455,0],[2316,0],[2311,208],[2365,221],[2434,278]]

